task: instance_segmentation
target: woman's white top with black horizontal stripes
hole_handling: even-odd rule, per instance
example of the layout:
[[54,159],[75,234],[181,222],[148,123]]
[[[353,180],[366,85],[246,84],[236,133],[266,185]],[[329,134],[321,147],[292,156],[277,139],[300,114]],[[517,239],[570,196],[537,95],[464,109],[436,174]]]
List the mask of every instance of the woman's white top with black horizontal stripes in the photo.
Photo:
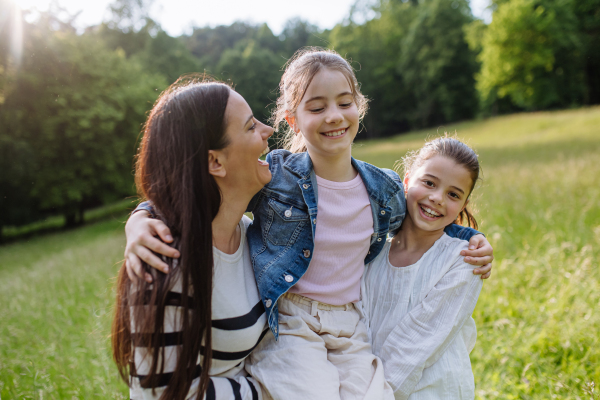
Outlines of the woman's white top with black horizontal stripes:
[[[245,358],[268,332],[267,318],[258,295],[250,251],[246,242],[246,228],[250,223],[251,220],[246,216],[240,221],[241,242],[234,254],[225,254],[213,247],[215,263],[212,293],[213,359],[210,369],[211,382],[206,399],[262,399],[260,386],[248,377],[244,369]],[[165,369],[160,376],[163,385],[155,391],[141,387],[140,378],[149,372],[151,353],[147,348],[135,347],[134,333],[133,361],[136,375],[131,377],[131,399],[160,398],[168,385],[170,373],[175,370],[177,352],[180,348],[178,332],[182,308],[177,305],[177,299],[181,297],[180,282],[171,289],[169,297],[173,299],[174,305],[165,307],[164,334],[167,345]],[[145,357],[146,355],[148,356]],[[196,396],[201,365],[202,355],[198,355],[197,378],[192,382],[188,398]]]

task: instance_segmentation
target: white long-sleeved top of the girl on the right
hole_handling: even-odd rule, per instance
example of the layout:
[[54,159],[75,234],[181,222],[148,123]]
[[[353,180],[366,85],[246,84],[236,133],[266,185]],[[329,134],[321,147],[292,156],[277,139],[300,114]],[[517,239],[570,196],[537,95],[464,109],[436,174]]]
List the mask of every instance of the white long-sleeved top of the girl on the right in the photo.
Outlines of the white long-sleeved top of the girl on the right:
[[389,262],[391,241],[362,281],[362,311],[373,352],[384,363],[396,399],[473,399],[471,317],[482,281],[461,250],[468,242],[445,233],[415,264]]

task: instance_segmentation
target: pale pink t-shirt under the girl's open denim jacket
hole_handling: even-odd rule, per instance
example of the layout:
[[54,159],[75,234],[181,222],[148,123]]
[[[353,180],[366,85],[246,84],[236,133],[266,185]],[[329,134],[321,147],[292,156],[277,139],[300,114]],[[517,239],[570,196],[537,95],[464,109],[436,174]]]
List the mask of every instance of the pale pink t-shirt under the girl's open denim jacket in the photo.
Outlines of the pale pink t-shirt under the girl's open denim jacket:
[[317,176],[313,258],[290,292],[332,305],[360,299],[360,278],[373,234],[369,194],[360,178],[332,182]]

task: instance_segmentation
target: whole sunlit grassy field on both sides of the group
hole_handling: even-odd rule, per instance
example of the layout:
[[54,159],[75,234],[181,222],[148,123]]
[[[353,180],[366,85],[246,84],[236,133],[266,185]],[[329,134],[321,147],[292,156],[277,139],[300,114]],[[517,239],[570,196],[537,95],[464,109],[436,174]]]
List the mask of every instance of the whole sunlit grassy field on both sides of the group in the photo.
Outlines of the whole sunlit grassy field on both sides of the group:
[[[480,399],[600,399],[600,108],[359,142],[392,167],[444,130],[479,152],[495,248],[474,318]],[[109,353],[122,219],[0,247],[0,398],[127,398]]]

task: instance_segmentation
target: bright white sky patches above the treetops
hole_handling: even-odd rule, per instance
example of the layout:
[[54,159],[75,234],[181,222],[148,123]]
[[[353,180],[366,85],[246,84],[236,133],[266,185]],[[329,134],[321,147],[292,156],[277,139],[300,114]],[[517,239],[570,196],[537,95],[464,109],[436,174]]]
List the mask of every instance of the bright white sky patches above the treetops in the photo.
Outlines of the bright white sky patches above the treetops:
[[[13,0],[22,9],[45,10],[52,0]],[[56,0],[55,0],[56,1]],[[192,26],[230,25],[234,21],[266,22],[276,35],[284,23],[300,17],[320,28],[332,28],[341,22],[356,0],[155,0],[151,17],[172,36],[191,32]],[[79,27],[96,25],[107,17],[112,0],[57,0],[75,14]],[[471,0],[473,13],[489,22],[485,7],[489,0]]]

